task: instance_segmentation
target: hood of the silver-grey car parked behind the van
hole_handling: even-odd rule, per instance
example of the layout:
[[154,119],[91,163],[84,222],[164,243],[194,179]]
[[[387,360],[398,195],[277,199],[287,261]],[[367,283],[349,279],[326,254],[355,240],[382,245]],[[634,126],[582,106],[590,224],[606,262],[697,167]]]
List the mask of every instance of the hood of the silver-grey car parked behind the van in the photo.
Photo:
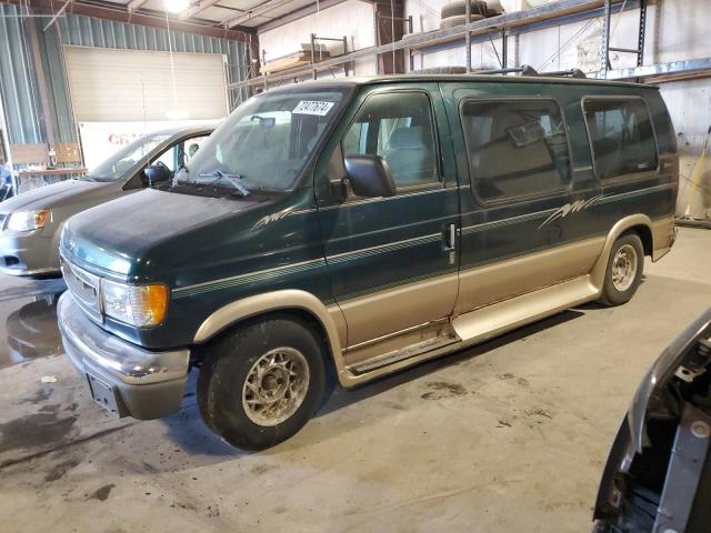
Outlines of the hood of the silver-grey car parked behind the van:
[[22,192],[0,203],[0,214],[52,209],[114,195],[121,183],[67,180]]

